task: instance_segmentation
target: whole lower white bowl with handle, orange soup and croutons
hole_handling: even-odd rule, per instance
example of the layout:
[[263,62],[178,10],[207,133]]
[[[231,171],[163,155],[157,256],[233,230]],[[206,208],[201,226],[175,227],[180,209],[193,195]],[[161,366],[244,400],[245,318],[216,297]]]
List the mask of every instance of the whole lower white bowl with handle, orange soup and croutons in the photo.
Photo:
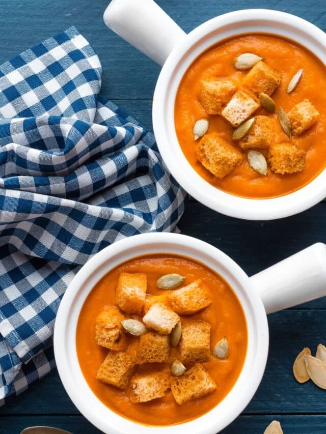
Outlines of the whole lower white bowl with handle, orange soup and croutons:
[[326,246],[252,277],[209,244],[137,235],[97,253],[59,307],[55,357],[78,410],[110,434],[215,434],[247,406],[266,313],[326,295]]

